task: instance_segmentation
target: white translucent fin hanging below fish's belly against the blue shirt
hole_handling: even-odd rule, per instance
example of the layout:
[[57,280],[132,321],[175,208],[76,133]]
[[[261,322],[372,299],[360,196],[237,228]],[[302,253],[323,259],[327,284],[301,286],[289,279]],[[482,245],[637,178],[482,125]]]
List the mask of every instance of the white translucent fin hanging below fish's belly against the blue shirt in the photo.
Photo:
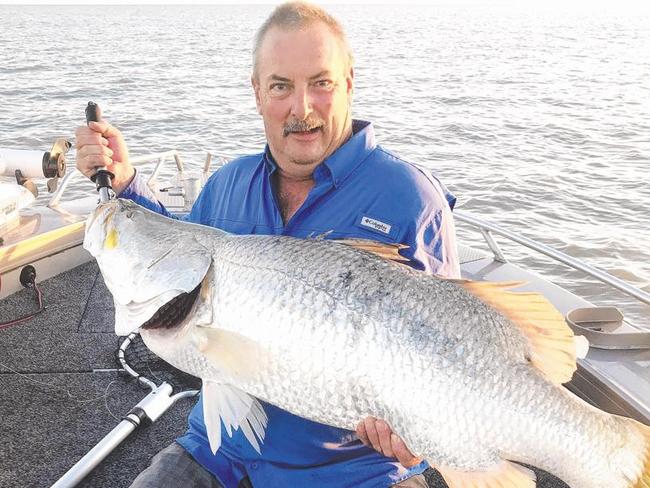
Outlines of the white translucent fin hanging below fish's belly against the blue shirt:
[[232,385],[205,381],[203,417],[213,454],[221,446],[221,422],[231,437],[233,430],[241,428],[248,442],[260,452],[259,443],[264,442],[268,418],[255,397]]

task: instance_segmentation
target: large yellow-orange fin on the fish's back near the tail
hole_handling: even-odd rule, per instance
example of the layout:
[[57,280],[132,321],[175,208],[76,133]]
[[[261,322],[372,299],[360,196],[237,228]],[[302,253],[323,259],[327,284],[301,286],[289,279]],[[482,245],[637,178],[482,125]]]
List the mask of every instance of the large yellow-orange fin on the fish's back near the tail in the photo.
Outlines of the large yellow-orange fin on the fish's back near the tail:
[[499,311],[528,339],[530,362],[556,384],[566,383],[576,370],[577,342],[564,317],[539,293],[510,292],[513,283],[468,281],[467,291]]

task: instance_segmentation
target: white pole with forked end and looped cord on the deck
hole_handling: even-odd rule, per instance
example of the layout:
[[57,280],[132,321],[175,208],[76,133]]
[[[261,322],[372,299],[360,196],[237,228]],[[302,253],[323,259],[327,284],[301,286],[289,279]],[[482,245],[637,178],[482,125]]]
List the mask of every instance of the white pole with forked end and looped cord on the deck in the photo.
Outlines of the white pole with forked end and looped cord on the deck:
[[[72,466],[51,488],[77,486],[99,465],[124,439],[138,427],[158,420],[178,400],[198,395],[201,380],[177,370],[155,356],[145,346],[137,333],[120,337],[117,360],[121,371],[151,392],[135,405],[104,438]],[[154,380],[159,381],[156,384]],[[161,380],[165,381],[161,381]],[[175,385],[185,389],[173,394]]]

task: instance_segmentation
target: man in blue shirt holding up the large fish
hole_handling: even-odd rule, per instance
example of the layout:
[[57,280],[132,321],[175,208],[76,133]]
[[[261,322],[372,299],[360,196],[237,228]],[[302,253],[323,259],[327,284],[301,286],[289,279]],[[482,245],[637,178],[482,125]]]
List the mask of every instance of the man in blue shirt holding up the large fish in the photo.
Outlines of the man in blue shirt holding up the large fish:
[[[404,243],[409,247],[402,253],[414,267],[458,276],[453,197],[377,146],[370,123],[352,120],[353,78],[350,49],[336,20],[304,3],[279,6],[258,31],[253,55],[251,81],[267,147],[216,172],[188,220],[233,233],[328,233]],[[104,165],[115,174],[120,197],[169,215],[135,176],[117,129],[106,122],[79,128],[78,168],[91,176]],[[187,433],[132,486],[426,486],[426,463],[386,422],[360,419],[357,438],[262,404],[269,424],[261,454],[241,431],[232,438],[224,431],[213,455],[199,401]]]

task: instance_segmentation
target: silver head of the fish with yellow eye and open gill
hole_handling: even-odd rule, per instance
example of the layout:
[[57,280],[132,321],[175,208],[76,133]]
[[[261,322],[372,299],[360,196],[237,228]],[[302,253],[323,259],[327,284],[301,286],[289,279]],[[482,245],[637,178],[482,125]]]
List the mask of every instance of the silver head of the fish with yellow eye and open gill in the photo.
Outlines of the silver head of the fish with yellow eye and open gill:
[[203,229],[123,199],[88,217],[83,245],[113,295],[116,334],[142,326],[171,329],[185,321],[212,263],[197,238]]

